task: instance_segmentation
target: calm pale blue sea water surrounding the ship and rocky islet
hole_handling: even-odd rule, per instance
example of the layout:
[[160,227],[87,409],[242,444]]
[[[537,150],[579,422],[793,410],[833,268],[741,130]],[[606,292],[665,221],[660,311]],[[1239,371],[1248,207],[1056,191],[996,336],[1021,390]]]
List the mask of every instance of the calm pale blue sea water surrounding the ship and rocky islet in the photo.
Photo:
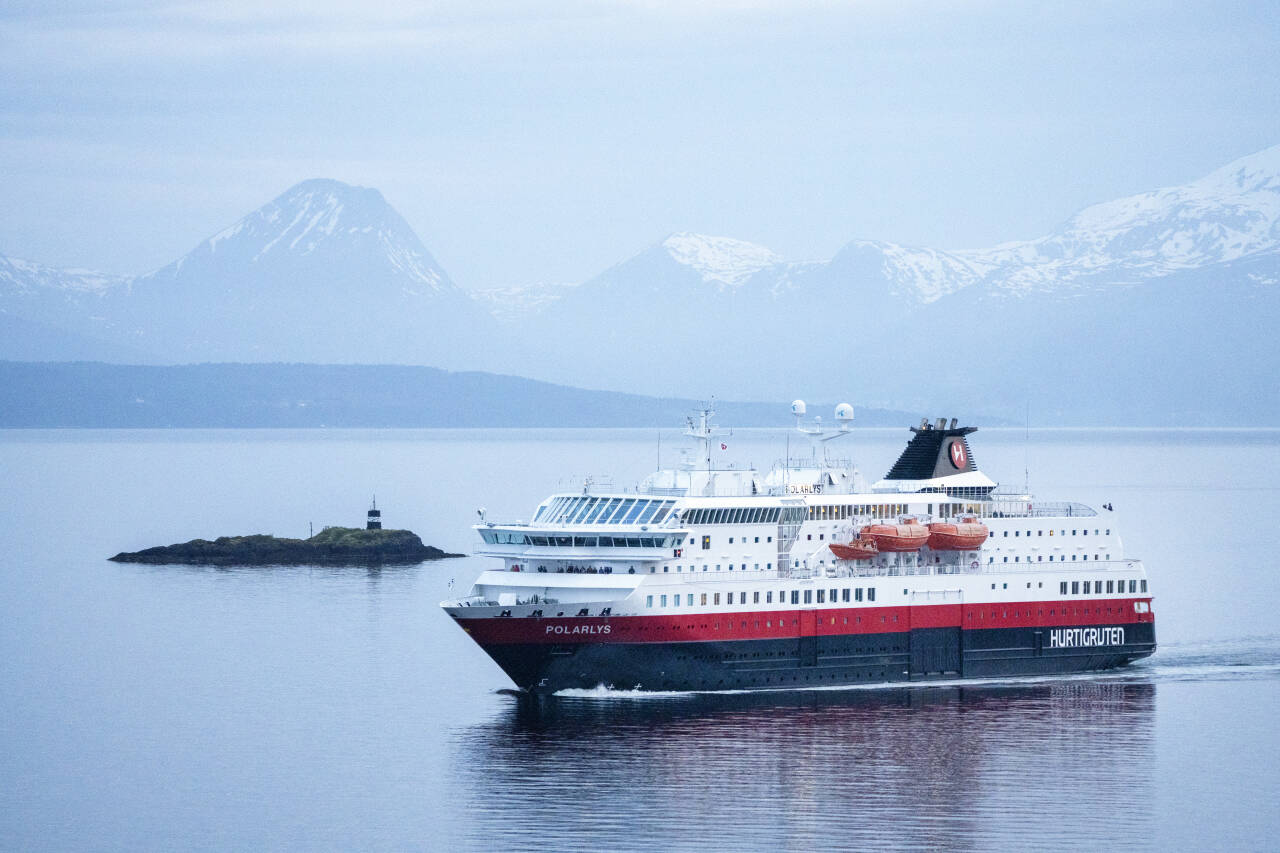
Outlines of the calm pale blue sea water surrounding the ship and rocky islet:
[[[906,430],[847,442],[870,479]],[[728,456],[768,465],[774,433]],[[358,525],[475,547],[657,430],[0,432],[4,849],[1275,849],[1280,433],[982,430],[978,462],[1111,502],[1160,652],[1117,674],[531,701],[406,569],[108,562]],[[795,448],[792,447],[792,451]]]

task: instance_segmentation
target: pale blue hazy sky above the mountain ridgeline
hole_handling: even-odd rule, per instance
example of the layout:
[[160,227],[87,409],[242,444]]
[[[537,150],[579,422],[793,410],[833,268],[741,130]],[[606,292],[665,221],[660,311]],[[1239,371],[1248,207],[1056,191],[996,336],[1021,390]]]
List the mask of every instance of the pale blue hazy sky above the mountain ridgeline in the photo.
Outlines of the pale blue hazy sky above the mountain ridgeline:
[[498,287],[1029,238],[1276,142],[1274,3],[0,4],[0,252],[115,273],[310,177]]

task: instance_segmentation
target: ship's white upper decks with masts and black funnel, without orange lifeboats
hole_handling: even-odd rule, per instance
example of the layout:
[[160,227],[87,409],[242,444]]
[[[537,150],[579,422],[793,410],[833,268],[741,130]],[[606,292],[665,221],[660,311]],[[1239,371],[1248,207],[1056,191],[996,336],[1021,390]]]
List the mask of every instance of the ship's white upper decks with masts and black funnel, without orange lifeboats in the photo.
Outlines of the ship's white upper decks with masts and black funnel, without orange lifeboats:
[[[977,469],[973,428],[940,419],[913,426],[913,438],[873,485],[820,442],[847,434],[801,430],[814,442],[762,475],[716,465],[709,412],[689,433],[704,443],[700,464],[657,471],[635,491],[556,493],[532,520],[476,525],[480,555],[509,571],[677,574],[764,573],[776,576],[972,574],[1036,571],[1060,564],[1124,560],[1119,534],[1083,503],[1002,493]],[[841,560],[831,544],[851,542],[869,524],[913,517],[920,524],[975,517],[989,535],[966,551],[882,552]],[[940,546],[941,547],[941,546]]]

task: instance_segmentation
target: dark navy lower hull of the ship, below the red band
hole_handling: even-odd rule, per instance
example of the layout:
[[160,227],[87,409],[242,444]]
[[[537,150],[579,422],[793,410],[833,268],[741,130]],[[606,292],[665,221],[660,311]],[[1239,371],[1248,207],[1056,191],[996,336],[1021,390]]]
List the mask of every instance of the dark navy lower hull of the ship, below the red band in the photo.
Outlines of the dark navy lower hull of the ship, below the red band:
[[[1156,651],[1155,624],[1062,647],[1048,628],[924,628],[882,634],[689,643],[485,644],[520,688],[777,690],[817,685],[1064,675]],[[1061,629],[1059,629],[1061,630]],[[1071,629],[1066,629],[1071,630]],[[1111,629],[1115,630],[1115,629]],[[1111,642],[1120,639],[1121,642]]]

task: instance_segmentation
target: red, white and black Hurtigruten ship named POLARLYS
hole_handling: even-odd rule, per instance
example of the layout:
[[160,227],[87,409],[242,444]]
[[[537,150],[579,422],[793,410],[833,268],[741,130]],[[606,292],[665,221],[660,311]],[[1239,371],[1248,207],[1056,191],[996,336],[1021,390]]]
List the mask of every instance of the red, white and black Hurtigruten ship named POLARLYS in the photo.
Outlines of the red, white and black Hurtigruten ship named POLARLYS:
[[777,690],[1107,670],[1156,649],[1142,561],[1108,514],[1009,492],[973,426],[920,421],[868,485],[805,425],[806,456],[767,474],[696,453],[634,489],[552,494],[481,517],[495,560],[444,611],[522,690]]

